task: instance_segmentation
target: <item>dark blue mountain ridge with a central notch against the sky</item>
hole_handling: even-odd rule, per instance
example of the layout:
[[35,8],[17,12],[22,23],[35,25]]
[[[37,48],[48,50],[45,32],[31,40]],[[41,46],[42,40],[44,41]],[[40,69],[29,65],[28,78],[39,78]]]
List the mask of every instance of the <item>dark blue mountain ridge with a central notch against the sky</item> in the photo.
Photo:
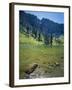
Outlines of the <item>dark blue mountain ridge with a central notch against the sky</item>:
[[50,19],[42,18],[41,20],[30,13],[26,13],[25,11],[19,12],[19,24],[32,31],[38,31],[44,35],[48,35],[49,33],[54,33],[57,36],[64,35],[64,24],[56,23]]

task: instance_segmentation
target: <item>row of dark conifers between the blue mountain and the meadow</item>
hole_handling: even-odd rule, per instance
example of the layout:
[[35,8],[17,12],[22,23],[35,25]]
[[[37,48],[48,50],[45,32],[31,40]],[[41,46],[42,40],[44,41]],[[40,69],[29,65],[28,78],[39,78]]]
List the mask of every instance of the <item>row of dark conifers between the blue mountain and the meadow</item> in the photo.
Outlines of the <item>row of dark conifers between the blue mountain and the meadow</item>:
[[[43,34],[36,28],[33,29],[31,26],[26,26],[26,27],[20,26],[20,31],[24,32],[24,34],[27,37],[31,36],[37,41],[42,41],[45,45],[50,45],[51,47],[53,46],[53,37],[55,37],[54,33],[49,33],[48,35]],[[56,37],[55,37],[55,41],[59,44],[61,43],[61,41]]]

